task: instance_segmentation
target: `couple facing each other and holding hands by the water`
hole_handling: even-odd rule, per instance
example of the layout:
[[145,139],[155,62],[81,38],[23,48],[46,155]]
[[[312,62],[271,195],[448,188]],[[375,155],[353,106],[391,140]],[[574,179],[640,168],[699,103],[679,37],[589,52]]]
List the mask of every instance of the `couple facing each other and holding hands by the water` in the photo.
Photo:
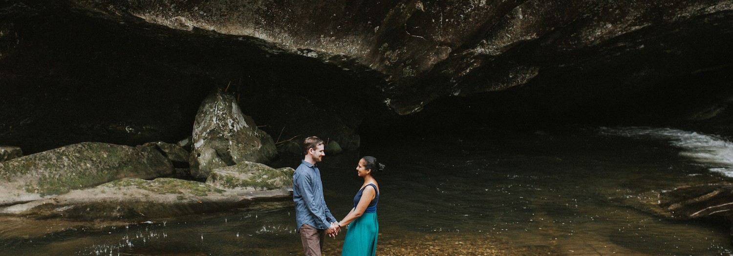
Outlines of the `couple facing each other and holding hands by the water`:
[[374,157],[359,159],[356,171],[364,178],[364,184],[354,196],[354,207],[338,221],[323,198],[323,183],[316,166],[325,152],[323,140],[312,136],[303,141],[305,157],[292,176],[292,200],[295,202],[295,220],[301,233],[306,255],[321,255],[325,235],[336,236],[343,227],[348,228],[341,255],[375,255],[377,251],[377,201],[379,185],[375,173],[384,170]]

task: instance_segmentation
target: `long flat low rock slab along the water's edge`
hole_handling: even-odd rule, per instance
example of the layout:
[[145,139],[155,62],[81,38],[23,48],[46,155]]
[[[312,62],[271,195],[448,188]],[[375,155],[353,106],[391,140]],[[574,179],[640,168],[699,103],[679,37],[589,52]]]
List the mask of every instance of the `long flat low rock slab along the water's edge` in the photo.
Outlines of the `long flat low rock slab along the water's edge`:
[[229,192],[202,182],[177,178],[155,178],[152,181],[129,178],[2,208],[0,212],[75,220],[151,219],[221,211],[246,206],[258,197],[281,194],[270,191]]

